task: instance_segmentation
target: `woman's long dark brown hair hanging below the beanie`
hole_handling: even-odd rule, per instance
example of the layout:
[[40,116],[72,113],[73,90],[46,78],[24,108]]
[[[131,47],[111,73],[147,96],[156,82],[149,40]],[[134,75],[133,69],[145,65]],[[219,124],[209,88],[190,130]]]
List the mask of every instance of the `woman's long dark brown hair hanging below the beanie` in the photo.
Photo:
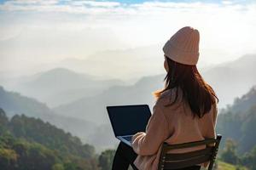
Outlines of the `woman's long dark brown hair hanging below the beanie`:
[[[193,116],[204,116],[211,111],[212,104],[218,100],[212,87],[207,84],[201,77],[196,65],[183,65],[166,57],[168,64],[168,71],[164,81],[165,88],[154,92],[156,98],[168,89],[181,88],[183,91],[183,99],[185,99],[190,106]],[[172,103],[166,105],[173,105],[177,101],[178,93],[176,91],[175,99]]]

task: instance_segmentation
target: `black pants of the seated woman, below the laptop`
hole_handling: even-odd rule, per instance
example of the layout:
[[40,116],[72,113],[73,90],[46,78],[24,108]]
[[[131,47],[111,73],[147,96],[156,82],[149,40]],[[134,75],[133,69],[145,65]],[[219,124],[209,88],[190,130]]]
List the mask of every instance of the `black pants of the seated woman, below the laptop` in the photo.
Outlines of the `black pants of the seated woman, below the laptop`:
[[[137,157],[137,153],[128,146],[127,144],[120,142],[119,146],[113,157],[112,170],[127,170],[129,165],[134,170],[138,170],[137,167],[133,164]],[[178,170],[200,170],[201,166],[185,167]]]

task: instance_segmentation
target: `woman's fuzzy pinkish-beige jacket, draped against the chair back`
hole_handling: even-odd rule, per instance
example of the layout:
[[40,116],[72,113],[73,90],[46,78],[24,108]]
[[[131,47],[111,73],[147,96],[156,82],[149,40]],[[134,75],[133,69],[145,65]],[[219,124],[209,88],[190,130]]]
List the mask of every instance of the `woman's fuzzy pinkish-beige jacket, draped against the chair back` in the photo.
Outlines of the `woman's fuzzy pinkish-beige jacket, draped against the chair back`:
[[[175,98],[175,91],[179,94],[177,102],[165,107],[170,98]],[[216,137],[215,124],[217,105],[201,118],[193,118],[189,104],[182,100],[182,90],[174,88],[165,91],[157,99],[153,107],[153,114],[148,121],[146,132],[136,133],[132,137],[132,148],[138,154],[134,161],[139,170],[156,170],[160,158],[161,144],[181,144],[205,138]],[[181,153],[203,149],[195,148],[172,150],[172,153]],[[206,164],[205,164],[206,165]]]

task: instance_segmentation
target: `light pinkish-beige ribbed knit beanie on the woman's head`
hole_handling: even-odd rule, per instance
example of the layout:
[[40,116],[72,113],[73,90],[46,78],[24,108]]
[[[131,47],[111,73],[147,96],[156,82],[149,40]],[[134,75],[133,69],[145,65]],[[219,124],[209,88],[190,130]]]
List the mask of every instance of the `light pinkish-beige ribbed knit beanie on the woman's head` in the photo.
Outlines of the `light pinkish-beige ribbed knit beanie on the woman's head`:
[[163,47],[166,57],[183,65],[196,65],[199,58],[199,31],[185,26],[177,31]]

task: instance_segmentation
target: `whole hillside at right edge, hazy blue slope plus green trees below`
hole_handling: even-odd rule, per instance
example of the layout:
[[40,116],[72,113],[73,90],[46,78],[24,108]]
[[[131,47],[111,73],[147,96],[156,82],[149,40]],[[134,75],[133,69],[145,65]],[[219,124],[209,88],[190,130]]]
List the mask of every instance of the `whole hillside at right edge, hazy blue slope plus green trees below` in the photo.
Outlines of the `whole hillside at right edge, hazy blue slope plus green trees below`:
[[[256,87],[219,111],[217,132],[223,135],[222,161],[256,170]],[[238,168],[239,169],[239,168]]]

